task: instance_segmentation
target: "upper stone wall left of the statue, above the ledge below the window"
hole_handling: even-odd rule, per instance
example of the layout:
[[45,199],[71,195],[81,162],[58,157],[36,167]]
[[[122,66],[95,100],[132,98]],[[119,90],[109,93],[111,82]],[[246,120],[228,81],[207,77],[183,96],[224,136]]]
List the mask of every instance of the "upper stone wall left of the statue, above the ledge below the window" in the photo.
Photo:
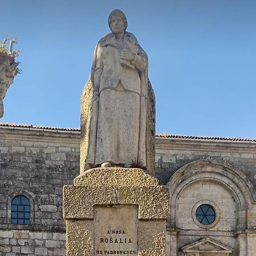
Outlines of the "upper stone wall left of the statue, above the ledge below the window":
[[62,190],[79,174],[79,133],[5,129],[0,145],[0,223],[11,223],[11,200],[24,195],[31,224],[64,226]]

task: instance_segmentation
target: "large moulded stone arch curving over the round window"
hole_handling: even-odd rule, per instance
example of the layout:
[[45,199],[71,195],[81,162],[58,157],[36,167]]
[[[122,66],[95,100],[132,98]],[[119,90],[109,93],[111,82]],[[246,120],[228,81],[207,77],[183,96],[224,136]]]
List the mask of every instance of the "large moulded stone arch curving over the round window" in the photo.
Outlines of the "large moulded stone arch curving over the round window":
[[237,229],[246,229],[247,210],[254,201],[253,185],[243,172],[224,162],[210,159],[197,160],[186,164],[168,181],[171,217],[169,226],[172,228],[176,227],[175,207],[179,193],[189,184],[202,179],[222,184],[232,193],[240,210],[237,216]]

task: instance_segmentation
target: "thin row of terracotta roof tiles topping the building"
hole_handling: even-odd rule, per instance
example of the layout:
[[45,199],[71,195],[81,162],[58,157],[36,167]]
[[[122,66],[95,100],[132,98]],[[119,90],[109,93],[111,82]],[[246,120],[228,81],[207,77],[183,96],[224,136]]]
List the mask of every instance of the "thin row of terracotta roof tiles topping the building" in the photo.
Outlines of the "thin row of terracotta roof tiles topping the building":
[[[58,130],[58,131],[77,131],[79,128],[60,128],[60,127],[47,127],[47,126],[35,126],[30,124],[16,125],[15,123],[0,123],[0,127],[19,127],[19,128],[32,128],[32,129],[44,129],[44,130]],[[156,134],[156,138],[173,138],[173,139],[196,139],[207,141],[246,141],[256,142],[256,139],[249,138],[228,138],[228,137],[207,137],[207,136],[189,136],[189,135],[175,135],[175,134]]]

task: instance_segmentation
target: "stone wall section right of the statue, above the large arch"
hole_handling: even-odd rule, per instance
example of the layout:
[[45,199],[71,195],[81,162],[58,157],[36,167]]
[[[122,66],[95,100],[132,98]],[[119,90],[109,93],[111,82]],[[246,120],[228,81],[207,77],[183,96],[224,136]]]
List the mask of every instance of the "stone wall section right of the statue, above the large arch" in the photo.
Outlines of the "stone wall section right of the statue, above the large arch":
[[215,159],[228,163],[244,172],[256,187],[256,142],[156,138],[156,176],[167,184],[171,176],[185,166],[200,159]]

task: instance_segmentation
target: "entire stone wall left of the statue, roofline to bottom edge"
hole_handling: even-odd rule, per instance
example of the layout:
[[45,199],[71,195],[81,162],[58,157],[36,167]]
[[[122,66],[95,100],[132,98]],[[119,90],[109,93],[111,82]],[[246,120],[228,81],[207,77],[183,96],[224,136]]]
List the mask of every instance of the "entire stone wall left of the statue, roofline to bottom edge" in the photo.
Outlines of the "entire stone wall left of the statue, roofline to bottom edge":
[[[0,255],[65,255],[62,191],[79,175],[79,138],[74,131],[0,129]],[[11,225],[18,195],[30,200],[31,225]]]

